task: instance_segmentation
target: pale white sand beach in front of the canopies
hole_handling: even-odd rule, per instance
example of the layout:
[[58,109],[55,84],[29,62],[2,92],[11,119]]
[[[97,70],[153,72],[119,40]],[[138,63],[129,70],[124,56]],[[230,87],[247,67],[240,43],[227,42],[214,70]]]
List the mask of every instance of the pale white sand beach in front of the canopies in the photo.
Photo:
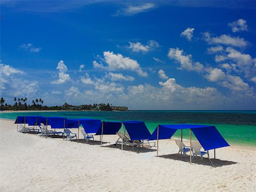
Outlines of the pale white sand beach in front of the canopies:
[[[207,158],[201,162],[197,157],[190,165],[188,157],[175,155],[178,148],[174,140],[161,140],[162,157],[155,157],[156,151],[147,149],[121,151],[113,145],[100,147],[97,142],[20,133],[13,123],[0,119],[0,191],[256,190],[255,150],[217,149],[213,168]],[[104,136],[109,142],[104,145],[116,139]]]

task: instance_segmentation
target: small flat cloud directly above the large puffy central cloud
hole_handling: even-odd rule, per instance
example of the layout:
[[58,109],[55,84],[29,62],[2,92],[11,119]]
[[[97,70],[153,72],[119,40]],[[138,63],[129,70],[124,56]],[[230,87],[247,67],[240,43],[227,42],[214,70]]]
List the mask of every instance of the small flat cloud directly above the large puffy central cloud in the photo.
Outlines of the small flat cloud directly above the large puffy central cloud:
[[160,45],[158,44],[158,42],[156,42],[155,40],[150,40],[147,42],[147,45],[143,45],[142,43],[132,43],[129,42],[129,49],[131,49],[131,51],[133,52],[148,52],[148,51],[152,51],[155,48],[158,48]]

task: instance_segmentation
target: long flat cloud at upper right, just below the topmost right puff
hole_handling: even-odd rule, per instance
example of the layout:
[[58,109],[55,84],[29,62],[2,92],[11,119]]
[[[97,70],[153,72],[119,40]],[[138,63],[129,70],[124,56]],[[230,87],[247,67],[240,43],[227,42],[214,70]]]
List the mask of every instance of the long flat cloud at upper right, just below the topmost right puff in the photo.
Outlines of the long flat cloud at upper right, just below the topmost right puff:
[[241,37],[232,37],[229,35],[221,35],[218,37],[211,37],[209,32],[203,33],[204,40],[208,42],[208,44],[224,44],[224,45],[232,45],[234,47],[246,47],[249,43],[241,38]]

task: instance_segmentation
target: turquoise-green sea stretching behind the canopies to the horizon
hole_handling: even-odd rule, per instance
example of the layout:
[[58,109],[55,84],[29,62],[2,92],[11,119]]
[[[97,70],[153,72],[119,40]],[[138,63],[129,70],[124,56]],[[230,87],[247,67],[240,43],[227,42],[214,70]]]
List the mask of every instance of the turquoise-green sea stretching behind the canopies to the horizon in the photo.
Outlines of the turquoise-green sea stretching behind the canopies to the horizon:
[[[104,121],[141,120],[152,133],[158,124],[214,125],[229,144],[256,147],[256,111],[56,111],[10,112],[0,118],[16,119],[16,116],[42,115],[66,118],[93,118]],[[175,133],[180,136],[180,131]],[[188,130],[184,131],[188,138]]]

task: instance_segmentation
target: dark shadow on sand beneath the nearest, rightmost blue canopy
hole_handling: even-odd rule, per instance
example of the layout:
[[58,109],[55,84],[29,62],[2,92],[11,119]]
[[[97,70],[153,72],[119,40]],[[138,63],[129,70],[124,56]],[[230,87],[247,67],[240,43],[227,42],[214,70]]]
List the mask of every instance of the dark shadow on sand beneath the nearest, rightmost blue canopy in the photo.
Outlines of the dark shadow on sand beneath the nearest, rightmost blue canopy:
[[[171,158],[172,160],[179,160],[179,161],[188,162],[188,163],[190,162],[189,155],[185,155],[183,157],[183,155],[181,155],[179,153],[170,154],[170,155],[161,155],[158,157]],[[212,163],[210,162],[210,160],[212,161]],[[212,166],[212,164],[213,164],[214,167],[237,164],[237,162],[234,162],[234,161],[225,161],[225,160],[220,160],[218,158],[211,158],[210,160],[209,160],[209,158],[203,157],[203,161],[201,161],[200,157],[194,157],[192,163],[199,164],[199,165],[207,165],[207,166]]]

